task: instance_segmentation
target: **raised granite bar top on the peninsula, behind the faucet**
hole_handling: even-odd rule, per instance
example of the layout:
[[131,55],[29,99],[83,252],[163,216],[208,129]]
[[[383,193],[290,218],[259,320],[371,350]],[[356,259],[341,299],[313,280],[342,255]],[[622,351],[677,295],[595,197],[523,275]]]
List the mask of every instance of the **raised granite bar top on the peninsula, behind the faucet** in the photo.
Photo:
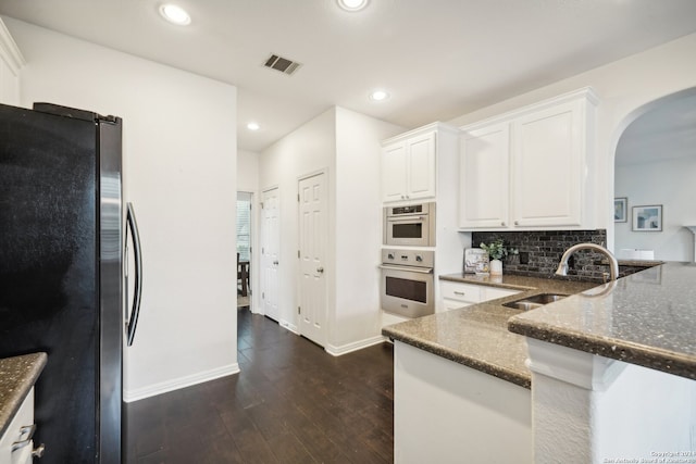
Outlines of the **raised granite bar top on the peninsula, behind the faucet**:
[[650,267],[520,313],[509,329],[696,379],[696,265]]

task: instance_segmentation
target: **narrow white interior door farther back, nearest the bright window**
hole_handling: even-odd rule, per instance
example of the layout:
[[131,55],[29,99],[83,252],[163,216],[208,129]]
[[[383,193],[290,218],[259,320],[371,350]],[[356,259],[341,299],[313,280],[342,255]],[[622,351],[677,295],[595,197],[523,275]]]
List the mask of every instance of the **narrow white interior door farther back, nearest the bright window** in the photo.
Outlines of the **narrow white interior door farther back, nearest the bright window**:
[[261,308],[274,321],[278,310],[278,251],[281,246],[278,189],[265,190],[261,198]]

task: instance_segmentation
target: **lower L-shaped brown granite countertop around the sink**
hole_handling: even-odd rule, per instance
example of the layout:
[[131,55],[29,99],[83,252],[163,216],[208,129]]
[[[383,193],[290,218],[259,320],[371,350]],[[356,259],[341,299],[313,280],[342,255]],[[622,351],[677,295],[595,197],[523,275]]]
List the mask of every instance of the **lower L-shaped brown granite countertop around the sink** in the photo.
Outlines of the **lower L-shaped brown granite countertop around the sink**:
[[537,293],[573,294],[597,286],[508,274],[489,277],[459,273],[439,278],[513,289],[520,293],[387,326],[382,334],[524,388],[531,387],[531,373],[524,364],[526,339],[508,330],[508,319],[520,311],[502,303]]

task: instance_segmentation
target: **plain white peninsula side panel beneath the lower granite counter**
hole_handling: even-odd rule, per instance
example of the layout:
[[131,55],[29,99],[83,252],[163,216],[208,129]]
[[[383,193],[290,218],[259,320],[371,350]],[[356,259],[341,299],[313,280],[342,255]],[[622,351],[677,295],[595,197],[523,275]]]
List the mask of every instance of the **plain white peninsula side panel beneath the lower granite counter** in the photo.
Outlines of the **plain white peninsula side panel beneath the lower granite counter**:
[[395,463],[544,463],[529,389],[400,341],[394,383]]

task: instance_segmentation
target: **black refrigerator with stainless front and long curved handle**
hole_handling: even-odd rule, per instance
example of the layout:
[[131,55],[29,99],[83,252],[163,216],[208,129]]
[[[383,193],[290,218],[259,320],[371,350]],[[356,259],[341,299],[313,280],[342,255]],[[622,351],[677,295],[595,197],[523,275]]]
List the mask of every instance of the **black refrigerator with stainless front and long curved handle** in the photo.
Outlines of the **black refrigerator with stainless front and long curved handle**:
[[0,105],[0,358],[48,353],[35,389],[42,463],[125,455],[122,354],[135,335],[141,273],[121,152],[120,117]]

